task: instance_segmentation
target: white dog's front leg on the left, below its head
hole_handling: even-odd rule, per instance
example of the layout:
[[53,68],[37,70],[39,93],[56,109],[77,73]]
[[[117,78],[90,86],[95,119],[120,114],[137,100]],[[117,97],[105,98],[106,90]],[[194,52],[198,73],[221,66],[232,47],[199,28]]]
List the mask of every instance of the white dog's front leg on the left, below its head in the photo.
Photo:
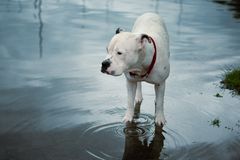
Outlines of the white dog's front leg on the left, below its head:
[[127,79],[127,93],[128,93],[128,106],[127,112],[123,118],[123,121],[132,122],[134,115],[134,99],[136,95],[137,82],[132,82]]

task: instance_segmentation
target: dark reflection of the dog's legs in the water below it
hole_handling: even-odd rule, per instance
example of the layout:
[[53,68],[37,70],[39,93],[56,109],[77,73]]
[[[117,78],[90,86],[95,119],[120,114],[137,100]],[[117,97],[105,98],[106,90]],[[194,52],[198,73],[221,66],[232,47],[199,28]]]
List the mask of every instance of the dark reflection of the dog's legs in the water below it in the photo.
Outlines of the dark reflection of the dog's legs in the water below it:
[[[162,127],[155,126],[152,134],[141,130],[136,123],[128,123],[125,128],[125,148],[123,160],[158,160],[163,148]],[[144,132],[144,135],[137,134]],[[149,135],[149,136],[148,136]]]

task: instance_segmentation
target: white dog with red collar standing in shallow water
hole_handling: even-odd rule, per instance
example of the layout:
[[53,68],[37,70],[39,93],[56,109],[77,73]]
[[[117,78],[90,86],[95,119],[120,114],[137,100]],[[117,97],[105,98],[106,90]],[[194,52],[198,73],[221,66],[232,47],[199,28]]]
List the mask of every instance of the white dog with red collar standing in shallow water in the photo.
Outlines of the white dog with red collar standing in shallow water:
[[127,79],[128,106],[124,122],[131,122],[135,103],[141,104],[141,81],[154,84],[155,87],[155,123],[164,125],[163,113],[165,81],[170,72],[169,40],[165,24],[154,13],[140,16],[132,32],[116,31],[110,41],[106,59],[102,62],[103,73]]

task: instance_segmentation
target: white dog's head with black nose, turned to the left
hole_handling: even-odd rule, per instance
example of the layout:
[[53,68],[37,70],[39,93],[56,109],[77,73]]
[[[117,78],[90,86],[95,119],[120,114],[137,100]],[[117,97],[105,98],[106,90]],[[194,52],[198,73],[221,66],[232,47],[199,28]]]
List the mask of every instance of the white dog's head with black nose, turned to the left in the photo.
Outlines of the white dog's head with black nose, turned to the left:
[[102,62],[103,73],[120,76],[135,67],[143,56],[145,43],[149,41],[146,34],[123,32],[117,29],[116,34],[107,46],[107,57]]

